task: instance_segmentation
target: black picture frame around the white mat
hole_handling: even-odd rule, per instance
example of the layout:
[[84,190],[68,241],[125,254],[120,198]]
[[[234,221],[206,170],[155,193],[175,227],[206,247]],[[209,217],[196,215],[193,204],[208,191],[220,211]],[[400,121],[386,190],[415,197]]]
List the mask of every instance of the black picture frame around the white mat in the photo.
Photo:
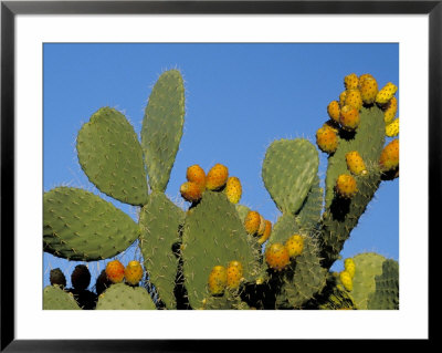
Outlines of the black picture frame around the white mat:
[[[296,14],[428,14],[429,15],[429,242],[438,236],[442,159],[442,1],[1,1],[1,242],[0,351],[3,352],[158,352],[253,349],[273,350],[271,341],[210,340],[62,340],[24,341],[14,335],[14,18],[17,14],[130,14],[130,13],[296,13]],[[421,235],[425,236],[425,235]],[[429,247],[429,273],[431,266]],[[434,262],[434,261],[433,261]],[[429,292],[431,293],[429,280]],[[429,298],[430,299],[430,298]],[[429,301],[430,302],[430,301]],[[431,310],[429,311],[429,318]],[[431,321],[431,320],[430,320]],[[35,323],[38,324],[38,323]],[[430,328],[430,325],[429,325]],[[429,343],[432,338],[429,331]],[[317,342],[333,349],[339,340]],[[370,347],[373,342],[365,343]],[[407,343],[410,344],[410,343]]]

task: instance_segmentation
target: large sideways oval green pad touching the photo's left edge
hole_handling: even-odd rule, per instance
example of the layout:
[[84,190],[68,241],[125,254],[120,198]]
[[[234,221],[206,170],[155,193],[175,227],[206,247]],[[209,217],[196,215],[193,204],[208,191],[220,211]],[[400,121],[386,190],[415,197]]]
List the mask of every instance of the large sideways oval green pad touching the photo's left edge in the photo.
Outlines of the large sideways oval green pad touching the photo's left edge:
[[43,195],[43,251],[78,261],[112,258],[138,237],[134,220],[83,189],[57,187]]

